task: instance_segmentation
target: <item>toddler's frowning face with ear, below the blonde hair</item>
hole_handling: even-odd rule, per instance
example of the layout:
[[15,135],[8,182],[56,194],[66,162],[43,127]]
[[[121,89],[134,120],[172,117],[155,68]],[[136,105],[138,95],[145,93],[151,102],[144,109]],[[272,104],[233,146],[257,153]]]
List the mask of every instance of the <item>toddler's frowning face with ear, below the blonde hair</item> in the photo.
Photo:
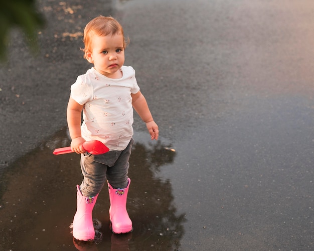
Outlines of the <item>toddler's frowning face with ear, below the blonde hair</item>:
[[88,62],[106,77],[121,78],[120,68],[124,64],[122,34],[94,36],[91,48],[92,51],[85,55]]

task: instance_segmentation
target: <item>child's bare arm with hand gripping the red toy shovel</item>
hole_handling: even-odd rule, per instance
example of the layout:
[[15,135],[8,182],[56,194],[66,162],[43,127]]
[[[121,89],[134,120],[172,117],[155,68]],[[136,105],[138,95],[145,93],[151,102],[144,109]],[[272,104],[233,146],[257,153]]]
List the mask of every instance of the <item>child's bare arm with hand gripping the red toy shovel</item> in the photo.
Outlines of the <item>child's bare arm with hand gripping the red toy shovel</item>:
[[67,121],[72,139],[71,148],[76,153],[86,152],[83,148],[84,139],[81,136],[81,116],[83,105],[77,103],[70,97],[67,108]]

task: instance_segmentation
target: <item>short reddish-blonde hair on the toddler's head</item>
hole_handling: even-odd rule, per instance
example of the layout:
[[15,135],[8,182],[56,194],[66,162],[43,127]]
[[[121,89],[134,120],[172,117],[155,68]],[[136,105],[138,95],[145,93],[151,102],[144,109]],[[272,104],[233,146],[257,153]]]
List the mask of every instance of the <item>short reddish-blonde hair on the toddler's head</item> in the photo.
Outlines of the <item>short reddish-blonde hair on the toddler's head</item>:
[[129,39],[124,37],[123,28],[112,17],[103,17],[99,16],[91,20],[84,29],[84,49],[81,49],[84,52],[84,58],[86,52],[91,52],[91,44],[93,36],[107,36],[107,35],[116,35],[121,34],[123,37],[123,49],[129,44]]

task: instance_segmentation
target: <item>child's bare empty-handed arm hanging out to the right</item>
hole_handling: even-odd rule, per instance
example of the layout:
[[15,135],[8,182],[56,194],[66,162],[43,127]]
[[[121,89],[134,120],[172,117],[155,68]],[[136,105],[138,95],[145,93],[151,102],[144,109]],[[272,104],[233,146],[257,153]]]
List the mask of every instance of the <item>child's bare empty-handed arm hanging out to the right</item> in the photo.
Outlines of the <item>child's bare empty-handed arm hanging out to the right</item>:
[[159,135],[158,125],[153,121],[145,97],[141,94],[140,91],[135,94],[131,94],[131,96],[134,110],[138,113],[139,117],[146,123],[146,127],[150,134],[151,140],[157,140]]

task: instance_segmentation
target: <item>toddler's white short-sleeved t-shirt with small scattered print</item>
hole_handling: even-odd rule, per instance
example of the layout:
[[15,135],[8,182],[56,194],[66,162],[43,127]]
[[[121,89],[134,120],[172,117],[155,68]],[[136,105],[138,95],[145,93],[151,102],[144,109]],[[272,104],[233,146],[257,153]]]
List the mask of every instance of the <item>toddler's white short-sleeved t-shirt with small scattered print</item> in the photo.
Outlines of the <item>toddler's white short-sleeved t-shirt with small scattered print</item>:
[[131,93],[139,91],[135,70],[122,66],[122,78],[111,79],[94,68],[77,77],[71,97],[84,105],[82,137],[99,140],[111,151],[124,150],[133,136]]

